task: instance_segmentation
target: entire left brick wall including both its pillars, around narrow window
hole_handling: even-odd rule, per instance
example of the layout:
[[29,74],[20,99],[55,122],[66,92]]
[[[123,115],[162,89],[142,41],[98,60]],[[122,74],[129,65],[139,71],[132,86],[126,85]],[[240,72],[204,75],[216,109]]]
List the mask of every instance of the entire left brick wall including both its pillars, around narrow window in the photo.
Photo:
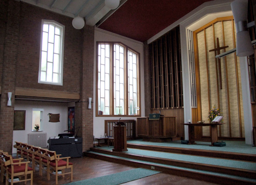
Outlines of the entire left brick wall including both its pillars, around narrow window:
[[[72,18],[56,14],[22,1],[0,1],[0,149],[12,151],[15,87],[77,92],[75,134],[83,137],[83,151],[93,146],[94,27],[76,30]],[[63,86],[38,83],[42,19],[65,26]],[[2,29],[3,28],[3,29]],[[6,33],[6,34],[5,34]],[[8,107],[7,92],[13,92]],[[86,102],[87,101],[87,102]]]

